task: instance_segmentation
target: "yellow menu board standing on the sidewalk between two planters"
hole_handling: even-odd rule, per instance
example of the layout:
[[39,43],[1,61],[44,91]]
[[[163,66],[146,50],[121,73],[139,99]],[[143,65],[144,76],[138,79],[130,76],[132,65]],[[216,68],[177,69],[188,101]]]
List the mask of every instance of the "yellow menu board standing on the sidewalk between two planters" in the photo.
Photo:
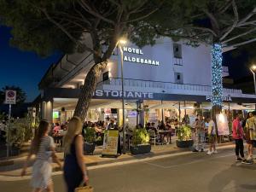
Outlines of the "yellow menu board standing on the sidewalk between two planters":
[[102,155],[117,155],[119,131],[108,130],[104,133]]

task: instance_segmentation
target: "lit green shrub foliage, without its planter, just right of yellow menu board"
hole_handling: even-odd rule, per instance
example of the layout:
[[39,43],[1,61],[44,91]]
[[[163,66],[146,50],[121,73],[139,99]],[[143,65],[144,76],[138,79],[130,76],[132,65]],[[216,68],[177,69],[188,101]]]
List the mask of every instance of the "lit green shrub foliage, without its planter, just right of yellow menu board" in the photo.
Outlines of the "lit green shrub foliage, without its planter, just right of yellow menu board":
[[147,144],[148,142],[149,142],[149,134],[145,128],[134,129],[133,137],[132,137],[132,144],[134,146],[137,146],[140,144]]

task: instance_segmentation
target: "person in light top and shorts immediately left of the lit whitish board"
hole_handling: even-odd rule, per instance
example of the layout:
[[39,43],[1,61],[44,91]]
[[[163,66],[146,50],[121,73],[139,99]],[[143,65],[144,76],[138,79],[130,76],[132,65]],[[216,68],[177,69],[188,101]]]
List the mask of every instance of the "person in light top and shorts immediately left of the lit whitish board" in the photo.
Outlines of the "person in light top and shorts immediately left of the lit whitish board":
[[207,117],[207,123],[208,123],[208,136],[209,136],[209,150],[207,152],[208,155],[210,154],[217,154],[216,150],[216,140],[217,140],[217,131],[216,131],[216,125],[210,117]]

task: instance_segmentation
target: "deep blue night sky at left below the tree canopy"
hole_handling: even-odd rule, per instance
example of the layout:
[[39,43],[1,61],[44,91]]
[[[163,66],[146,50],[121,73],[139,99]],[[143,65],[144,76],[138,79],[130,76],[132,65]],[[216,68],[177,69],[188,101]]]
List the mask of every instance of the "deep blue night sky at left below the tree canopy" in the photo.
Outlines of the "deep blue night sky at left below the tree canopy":
[[44,73],[61,55],[40,58],[36,53],[9,46],[10,28],[0,26],[0,88],[5,85],[20,86],[26,91],[26,102],[38,96],[38,83]]

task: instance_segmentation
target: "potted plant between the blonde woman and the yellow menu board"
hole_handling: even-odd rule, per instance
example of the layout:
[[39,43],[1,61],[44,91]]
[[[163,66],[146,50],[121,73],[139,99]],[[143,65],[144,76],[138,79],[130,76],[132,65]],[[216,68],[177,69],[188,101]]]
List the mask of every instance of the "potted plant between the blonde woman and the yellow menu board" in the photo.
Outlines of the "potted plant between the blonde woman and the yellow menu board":
[[95,150],[96,131],[93,127],[84,129],[84,153],[93,154]]

